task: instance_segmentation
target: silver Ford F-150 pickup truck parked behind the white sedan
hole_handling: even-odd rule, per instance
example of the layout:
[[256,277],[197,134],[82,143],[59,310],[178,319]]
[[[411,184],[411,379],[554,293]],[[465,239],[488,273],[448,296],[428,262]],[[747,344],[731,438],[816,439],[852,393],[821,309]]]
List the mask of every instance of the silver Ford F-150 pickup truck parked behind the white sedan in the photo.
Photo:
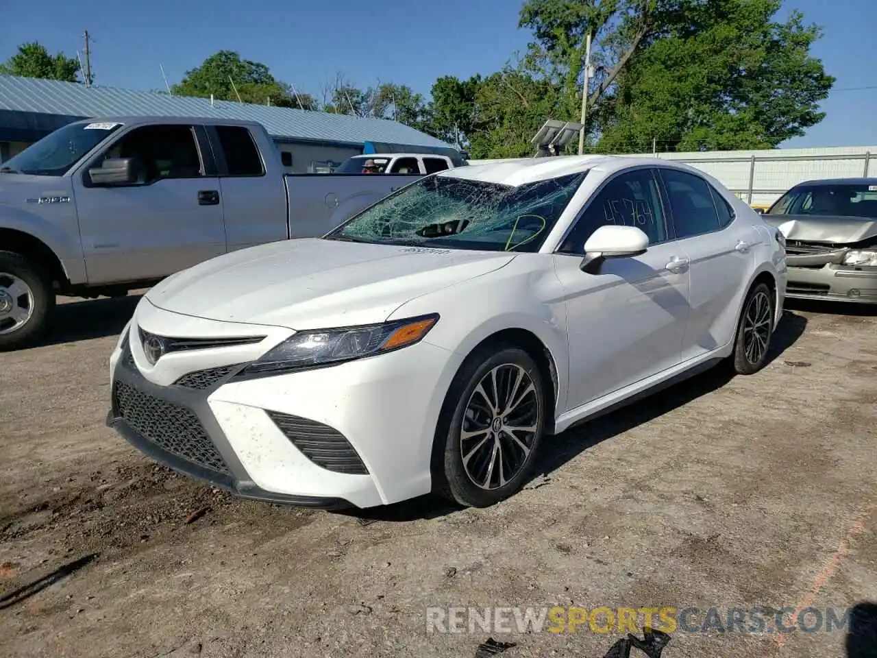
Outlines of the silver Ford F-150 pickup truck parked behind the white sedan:
[[123,296],[219,254],[330,231],[411,175],[285,175],[264,127],[210,118],[65,125],[0,167],[0,351],[56,295]]

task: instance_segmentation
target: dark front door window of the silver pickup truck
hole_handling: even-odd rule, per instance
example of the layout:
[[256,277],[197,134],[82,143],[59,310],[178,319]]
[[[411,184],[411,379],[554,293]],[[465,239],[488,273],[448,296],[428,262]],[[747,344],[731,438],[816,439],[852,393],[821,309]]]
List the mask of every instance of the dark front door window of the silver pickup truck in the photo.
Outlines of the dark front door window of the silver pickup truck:
[[145,125],[135,128],[103,155],[104,160],[108,158],[131,158],[137,172],[137,182],[142,185],[163,178],[196,178],[204,175],[191,125]]

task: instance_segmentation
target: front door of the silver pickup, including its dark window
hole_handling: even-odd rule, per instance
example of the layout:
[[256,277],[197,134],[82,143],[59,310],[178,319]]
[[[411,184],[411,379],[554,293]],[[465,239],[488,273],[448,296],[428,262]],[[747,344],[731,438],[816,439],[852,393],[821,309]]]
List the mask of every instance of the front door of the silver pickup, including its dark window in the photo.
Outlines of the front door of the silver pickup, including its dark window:
[[[137,161],[137,182],[92,184],[89,168],[106,158]],[[73,189],[91,285],[160,279],[225,253],[219,179],[201,125],[123,129],[75,172]]]

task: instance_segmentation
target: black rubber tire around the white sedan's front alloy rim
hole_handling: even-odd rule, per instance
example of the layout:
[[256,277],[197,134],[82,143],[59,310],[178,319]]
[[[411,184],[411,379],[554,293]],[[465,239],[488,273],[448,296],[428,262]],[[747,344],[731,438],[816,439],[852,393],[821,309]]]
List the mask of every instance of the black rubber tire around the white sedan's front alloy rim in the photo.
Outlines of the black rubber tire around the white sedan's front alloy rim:
[[[461,434],[463,432],[463,420],[468,418],[468,422],[474,423],[472,411],[467,416],[467,408],[470,400],[474,395],[481,400],[480,394],[475,394],[481,380],[485,376],[491,377],[488,386],[492,386],[491,371],[497,370],[498,387],[501,390],[510,390],[510,385],[519,372],[525,373],[533,385],[532,394],[527,393],[526,397],[520,397],[520,404],[517,405],[519,411],[510,411],[506,418],[498,416],[500,422],[508,419],[509,426],[515,423],[526,423],[527,426],[535,427],[535,432],[522,432],[516,430],[515,435],[521,440],[516,442],[512,433],[506,431],[505,426],[498,433],[488,432],[485,436],[486,444],[491,441],[500,443],[507,451],[502,456],[509,458],[512,463],[507,469],[502,469],[504,475],[510,475],[506,478],[505,483],[500,483],[500,478],[488,471],[488,480],[482,481],[487,483],[488,487],[479,486],[474,482],[472,476],[469,475],[463,460],[463,447]],[[526,382],[524,375],[521,375],[521,381]],[[529,384],[525,384],[521,390],[529,388]],[[494,393],[496,391],[491,391]],[[518,391],[520,393],[520,390]],[[488,393],[488,395],[490,394]],[[433,461],[433,481],[436,485],[433,489],[446,498],[467,507],[488,507],[499,501],[517,493],[521,487],[528,481],[531,473],[533,462],[538,454],[538,447],[545,432],[545,414],[547,410],[547,400],[545,396],[545,378],[542,371],[538,367],[536,361],[533,361],[530,354],[527,354],[520,347],[510,346],[493,346],[479,350],[467,358],[467,361],[460,367],[460,371],[453,379],[453,383],[447,392],[445,404],[442,407],[442,413],[439,418],[439,426],[436,429],[436,457]],[[535,404],[535,409],[530,410],[530,405]],[[478,404],[477,402],[475,403]],[[530,410],[524,414],[524,409]],[[485,406],[485,418],[489,417],[488,410]],[[513,418],[514,417],[514,418]],[[484,420],[481,419],[481,424]],[[467,451],[471,451],[471,447],[481,440],[478,436],[472,440],[467,440]],[[529,452],[519,446],[524,443],[529,447]],[[486,449],[490,449],[489,447]],[[484,454],[482,459],[481,451],[475,451],[474,457],[470,458],[469,471],[474,470],[481,463],[486,463],[493,456]],[[496,463],[500,463],[496,461]],[[513,474],[513,475],[512,475]],[[479,478],[481,479],[481,478]],[[496,486],[491,485],[496,480]],[[488,482],[489,481],[489,482]]]

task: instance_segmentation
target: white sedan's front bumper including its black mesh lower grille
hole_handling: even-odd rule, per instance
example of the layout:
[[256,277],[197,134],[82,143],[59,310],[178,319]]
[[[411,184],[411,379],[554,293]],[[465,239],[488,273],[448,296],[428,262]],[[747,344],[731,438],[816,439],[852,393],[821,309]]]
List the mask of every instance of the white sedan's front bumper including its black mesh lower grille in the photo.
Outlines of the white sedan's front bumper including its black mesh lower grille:
[[[175,319],[146,311],[146,331],[168,335]],[[150,369],[137,319],[111,357],[107,422],[153,459],[236,496],[315,508],[372,507],[431,490],[435,428],[460,355],[424,340],[332,367],[235,380],[239,363],[213,368],[222,372],[206,385],[196,377],[193,389],[177,378],[205,372],[211,351],[172,354],[160,359],[168,358],[164,370]],[[208,328],[192,331],[212,335]],[[227,362],[212,352],[212,365]]]

